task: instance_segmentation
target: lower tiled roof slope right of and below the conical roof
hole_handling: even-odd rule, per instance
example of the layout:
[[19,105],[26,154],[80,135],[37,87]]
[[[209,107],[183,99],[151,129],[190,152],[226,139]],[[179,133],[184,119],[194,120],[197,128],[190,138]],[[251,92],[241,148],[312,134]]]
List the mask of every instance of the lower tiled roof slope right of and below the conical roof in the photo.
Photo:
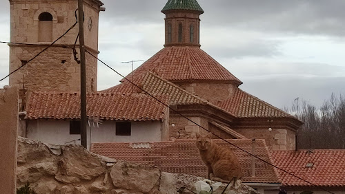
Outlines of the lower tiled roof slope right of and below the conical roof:
[[219,102],[217,106],[240,118],[295,118],[239,88],[233,97]]

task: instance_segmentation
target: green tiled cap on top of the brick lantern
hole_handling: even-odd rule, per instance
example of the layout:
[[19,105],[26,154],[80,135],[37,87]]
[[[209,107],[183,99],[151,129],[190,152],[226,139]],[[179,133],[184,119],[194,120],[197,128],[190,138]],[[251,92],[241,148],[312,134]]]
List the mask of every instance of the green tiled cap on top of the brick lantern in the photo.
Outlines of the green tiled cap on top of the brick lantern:
[[200,12],[200,14],[204,13],[204,10],[202,10],[196,0],[168,0],[161,12],[168,10],[191,10]]

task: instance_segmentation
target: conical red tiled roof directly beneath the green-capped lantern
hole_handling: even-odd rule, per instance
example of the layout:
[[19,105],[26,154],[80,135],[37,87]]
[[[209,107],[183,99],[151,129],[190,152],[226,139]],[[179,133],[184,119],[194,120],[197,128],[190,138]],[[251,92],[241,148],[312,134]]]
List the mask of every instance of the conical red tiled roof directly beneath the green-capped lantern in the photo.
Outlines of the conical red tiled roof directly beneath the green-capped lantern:
[[196,46],[164,47],[126,78],[132,78],[132,74],[140,76],[149,71],[170,81],[221,80],[242,84],[215,59]]

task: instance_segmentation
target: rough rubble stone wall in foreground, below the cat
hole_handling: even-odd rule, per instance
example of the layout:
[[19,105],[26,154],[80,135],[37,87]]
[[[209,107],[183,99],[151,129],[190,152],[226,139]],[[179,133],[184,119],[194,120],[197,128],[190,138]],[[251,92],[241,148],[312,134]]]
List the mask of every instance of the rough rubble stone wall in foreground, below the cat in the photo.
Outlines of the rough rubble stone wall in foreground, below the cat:
[[[161,172],[155,166],[130,164],[95,155],[75,144],[51,145],[18,139],[17,188],[27,182],[35,193],[192,193],[192,175]],[[221,193],[225,185],[214,193]],[[225,193],[257,193],[242,184]]]

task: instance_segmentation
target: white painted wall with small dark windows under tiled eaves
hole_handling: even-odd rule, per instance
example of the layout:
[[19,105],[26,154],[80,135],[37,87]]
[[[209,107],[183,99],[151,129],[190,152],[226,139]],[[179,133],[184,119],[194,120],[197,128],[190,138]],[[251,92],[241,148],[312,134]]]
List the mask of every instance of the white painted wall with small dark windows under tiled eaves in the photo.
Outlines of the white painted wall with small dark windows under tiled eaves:
[[[116,121],[105,120],[99,127],[92,122],[87,126],[90,142],[161,142],[161,121],[131,122],[130,136],[116,136]],[[80,135],[70,134],[69,120],[28,120],[26,138],[50,144],[80,144]]]

